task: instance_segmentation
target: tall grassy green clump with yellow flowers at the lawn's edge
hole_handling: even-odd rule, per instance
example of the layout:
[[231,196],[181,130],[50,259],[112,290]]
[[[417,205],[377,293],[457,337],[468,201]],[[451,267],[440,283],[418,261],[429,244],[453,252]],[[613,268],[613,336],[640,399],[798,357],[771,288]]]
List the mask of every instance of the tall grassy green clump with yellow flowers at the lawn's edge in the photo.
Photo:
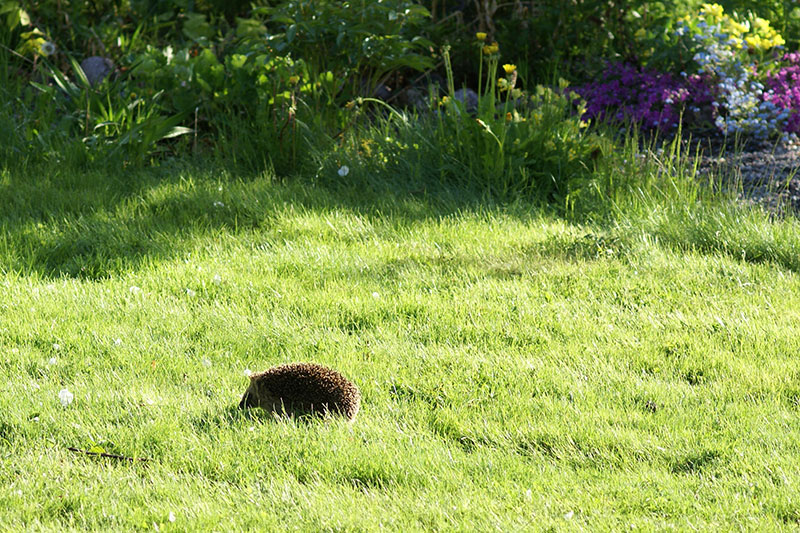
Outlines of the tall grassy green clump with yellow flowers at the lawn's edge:
[[516,86],[515,65],[499,68],[497,43],[477,44],[485,78],[475,109],[459,99],[463,93],[455,89],[444,50],[448,94],[431,95],[429,114],[355,100],[349,106],[353,123],[366,106],[377,115],[369,127],[346,131],[337,149],[317,150],[315,173],[330,178],[346,166],[354,175],[407,182],[410,190],[433,182],[479,190],[486,198],[526,198],[572,210],[582,195],[592,194],[596,171],[613,143],[588,131],[581,120],[583,103],[565,91],[565,83],[559,90],[523,91]]

